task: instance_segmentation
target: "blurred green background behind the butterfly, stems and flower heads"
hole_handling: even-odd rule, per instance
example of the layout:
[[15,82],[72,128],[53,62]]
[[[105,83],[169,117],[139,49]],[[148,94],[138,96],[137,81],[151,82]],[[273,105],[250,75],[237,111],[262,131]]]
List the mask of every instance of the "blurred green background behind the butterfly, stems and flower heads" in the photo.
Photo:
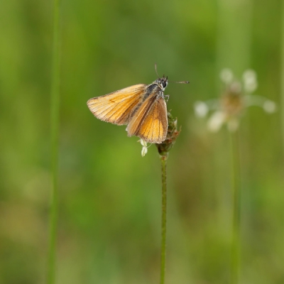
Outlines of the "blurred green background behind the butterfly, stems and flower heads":
[[[91,97],[160,75],[182,132],[168,159],[166,283],[228,283],[229,134],[207,131],[197,100],[219,97],[219,71],[258,74],[241,121],[241,280],[284,283],[280,123],[283,1],[64,1],[60,81],[57,283],[158,283],[160,161]],[[0,4],[0,283],[45,283],[50,204],[52,1]]]

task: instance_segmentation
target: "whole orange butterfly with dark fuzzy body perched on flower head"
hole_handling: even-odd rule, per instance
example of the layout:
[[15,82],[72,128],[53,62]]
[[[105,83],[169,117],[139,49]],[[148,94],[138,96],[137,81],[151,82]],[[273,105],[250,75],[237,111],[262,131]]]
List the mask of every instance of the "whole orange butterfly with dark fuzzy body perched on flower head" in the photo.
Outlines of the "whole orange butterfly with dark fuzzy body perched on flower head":
[[[157,73],[156,65],[155,71]],[[165,141],[168,131],[168,111],[165,103],[165,97],[168,96],[164,96],[168,82],[168,76],[163,75],[152,84],[135,84],[89,99],[87,106],[92,114],[102,121],[116,125],[127,124],[128,136],[138,136],[143,141],[159,144]]]

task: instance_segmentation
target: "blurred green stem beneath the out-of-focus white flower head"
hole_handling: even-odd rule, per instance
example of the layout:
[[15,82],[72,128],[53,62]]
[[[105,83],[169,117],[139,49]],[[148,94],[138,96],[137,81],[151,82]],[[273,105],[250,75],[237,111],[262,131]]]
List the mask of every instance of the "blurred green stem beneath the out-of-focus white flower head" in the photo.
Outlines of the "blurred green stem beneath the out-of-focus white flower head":
[[231,284],[239,282],[240,266],[240,224],[241,224],[241,171],[239,155],[239,133],[231,133],[231,178],[233,190],[233,218],[231,240]]

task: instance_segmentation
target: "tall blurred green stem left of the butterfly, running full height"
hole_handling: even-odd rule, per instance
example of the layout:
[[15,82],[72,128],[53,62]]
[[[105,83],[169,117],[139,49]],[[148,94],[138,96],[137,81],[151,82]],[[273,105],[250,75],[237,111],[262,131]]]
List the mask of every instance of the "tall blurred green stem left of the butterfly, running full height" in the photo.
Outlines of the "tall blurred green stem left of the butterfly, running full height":
[[60,106],[60,0],[53,1],[53,63],[50,89],[51,175],[50,236],[48,284],[55,283],[55,251],[58,224],[58,141]]

